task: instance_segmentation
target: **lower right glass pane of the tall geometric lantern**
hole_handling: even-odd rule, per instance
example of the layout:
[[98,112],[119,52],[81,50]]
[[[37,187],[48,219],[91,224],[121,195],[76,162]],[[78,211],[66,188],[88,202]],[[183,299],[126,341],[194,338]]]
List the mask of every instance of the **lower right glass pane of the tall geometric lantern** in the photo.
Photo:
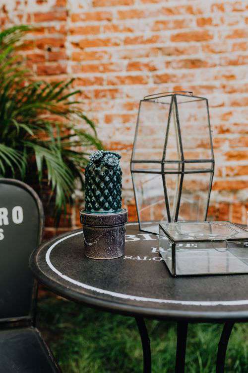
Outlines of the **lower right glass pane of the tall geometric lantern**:
[[212,173],[185,174],[178,220],[205,220]]

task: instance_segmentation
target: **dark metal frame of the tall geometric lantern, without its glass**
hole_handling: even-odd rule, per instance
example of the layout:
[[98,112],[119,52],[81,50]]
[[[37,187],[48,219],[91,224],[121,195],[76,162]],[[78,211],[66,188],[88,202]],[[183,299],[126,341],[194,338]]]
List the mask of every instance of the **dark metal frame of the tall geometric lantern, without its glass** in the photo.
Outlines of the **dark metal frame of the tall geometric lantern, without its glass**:
[[[140,117],[140,109],[141,109],[141,104],[142,102],[149,101],[149,102],[158,102],[158,98],[162,97],[168,97],[171,95],[171,102],[170,102],[170,109],[169,109],[169,115],[167,118],[165,118],[165,141],[164,141],[164,147],[163,147],[163,155],[161,160],[137,160],[134,157],[134,152],[135,152],[135,146],[137,143],[137,136],[138,136],[138,127],[139,127],[139,117]],[[211,159],[186,159],[184,155],[184,147],[183,147],[183,141],[182,141],[182,133],[181,133],[181,125],[180,125],[180,120],[179,120],[179,108],[178,108],[178,102],[177,102],[177,96],[188,96],[190,97],[189,101],[184,101],[186,102],[192,102],[198,101],[198,100],[204,100],[206,102],[206,110],[207,110],[207,125],[208,125],[208,130],[209,130],[209,140],[210,140],[210,150],[211,150]],[[166,103],[167,102],[161,102],[160,103]],[[171,116],[172,116],[172,110],[173,110],[173,105],[175,107],[175,117],[176,117],[176,131],[178,135],[178,140],[179,140],[179,151],[180,151],[180,160],[166,160],[166,150],[167,150],[167,144],[168,144],[168,135],[169,135],[169,124],[171,121]],[[136,170],[134,169],[135,165],[137,164],[159,164],[161,165],[160,170],[153,170],[153,171],[146,171],[144,170]],[[186,164],[194,164],[194,163],[202,163],[206,164],[209,163],[210,168],[208,169],[192,169],[192,170],[186,170]],[[131,161],[130,161],[130,171],[131,171],[131,177],[132,177],[132,184],[133,184],[133,190],[134,190],[134,197],[135,197],[135,203],[136,203],[136,210],[137,210],[137,215],[138,215],[138,223],[139,223],[139,229],[144,232],[149,232],[151,231],[149,229],[144,229],[141,226],[141,218],[140,218],[140,212],[139,212],[139,206],[138,206],[138,201],[137,201],[137,190],[135,186],[135,181],[134,181],[134,174],[136,173],[142,173],[142,174],[160,174],[162,176],[162,182],[163,182],[163,188],[164,188],[164,196],[165,196],[165,206],[166,206],[166,211],[167,211],[167,218],[168,222],[176,222],[178,221],[178,216],[179,216],[179,209],[180,209],[180,202],[181,202],[181,195],[182,195],[182,187],[183,187],[183,181],[184,177],[186,174],[206,174],[210,173],[210,180],[209,180],[209,186],[208,186],[208,194],[207,194],[207,203],[206,203],[206,211],[205,211],[205,217],[204,220],[207,218],[207,212],[208,212],[208,206],[209,206],[209,199],[210,199],[210,193],[211,193],[211,188],[212,188],[212,182],[213,182],[213,176],[214,176],[214,152],[213,152],[213,142],[212,142],[212,135],[211,135],[211,128],[210,128],[210,118],[209,118],[209,108],[208,108],[208,100],[205,97],[201,96],[195,96],[193,95],[192,92],[189,91],[173,91],[173,92],[165,92],[165,93],[157,93],[157,94],[151,94],[145,96],[142,100],[140,100],[139,103],[139,109],[138,109],[138,116],[137,116],[137,122],[136,122],[136,130],[135,130],[135,135],[134,135],[134,142],[133,142],[133,148],[132,148],[132,154],[131,154]],[[175,171],[170,171],[166,170],[165,166],[168,164],[174,164],[178,166],[178,170]],[[180,171],[179,168],[181,167]],[[166,187],[166,175],[167,174],[180,174],[181,179],[180,179],[180,184],[179,184],[179,191],[178,191],[178,198],[177,198],[177,203],[176,203],[176,210],[175,210],[175,218],[172,219],[171,213],[170,213],[170,205],[169,205],[169,198],[168,198],[168,193],[167,193],[167,187]]]

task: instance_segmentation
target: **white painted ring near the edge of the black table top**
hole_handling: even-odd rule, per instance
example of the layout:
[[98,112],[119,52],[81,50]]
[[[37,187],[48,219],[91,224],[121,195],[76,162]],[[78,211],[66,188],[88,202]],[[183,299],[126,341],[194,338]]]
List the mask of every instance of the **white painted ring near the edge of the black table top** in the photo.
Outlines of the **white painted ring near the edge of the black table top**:
[[[136,225],[137,223],[129,223],[126,225]],[[50,248],[48,249],[46,253],[46,262],[48,266],[51,268],[53,272],[55,272],[58,276],[60,276],[62,279],[73,283],[74,285],[83,287],[84,289],[87,290],[92,290],[96,291],[101,294],[107,294],[111,295],[117,298],[122,298],[122,299],[129,299],[129,300],[137,300],[137,301],[142,301],[142,302],[157,302],[157,303],[169,303],[169,304],[182,304],[186,306],[217,306],[217,305],[222,305],[222,306],[238,306],[238,305],[247,305],[248,304],[248,299],[244,300],[217,300],[217,301],[205,301],[205,300],[173,300],[173,299],[157,299],[157,298],[146,298],[143,296],[137,296],[137,295],[129,295],[129,294],[122,294],[118,293],[115,291],[110,291],[110,290],[105,290],[101,289],[99,287],[87,285],[86,283],[79,282],[77,280],[73,280],[70,277],[63,275],[60,271],[58,271],[51,263],[50,261],[50,254],[52,250],[57,246],[60,242],[67,240],[67,238],[77,236],[78,234],[82,234],[83,231],[76,232],[76,233],[71,233],[68,236],[65,236],[61,238],[60,240],[56,241]]]

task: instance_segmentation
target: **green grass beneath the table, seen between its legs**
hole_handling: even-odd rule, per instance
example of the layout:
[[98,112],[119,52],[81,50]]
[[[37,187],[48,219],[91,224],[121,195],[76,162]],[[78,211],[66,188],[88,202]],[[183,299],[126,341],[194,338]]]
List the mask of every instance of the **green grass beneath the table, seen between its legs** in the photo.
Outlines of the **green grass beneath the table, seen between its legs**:
[[[146,320],[152,372],[174,372],[176,324]],[[131,317],[100,312],[47,296],[39,300],[38,327],[65,373],[140,373],[142,349]],[[214,373],[221,325],[190,324],[186,372]],[[247,324],[236,324],[229,342],[226,372],[248,372]]]

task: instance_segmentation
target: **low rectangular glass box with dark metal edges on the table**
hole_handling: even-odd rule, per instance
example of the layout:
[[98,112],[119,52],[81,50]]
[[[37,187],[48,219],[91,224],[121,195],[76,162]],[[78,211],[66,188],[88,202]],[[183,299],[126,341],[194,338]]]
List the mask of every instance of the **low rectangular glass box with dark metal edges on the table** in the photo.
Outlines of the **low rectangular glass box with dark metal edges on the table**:
[[172,276],[248,273],[248,231],[229,221],[161,223],[159,252]]

